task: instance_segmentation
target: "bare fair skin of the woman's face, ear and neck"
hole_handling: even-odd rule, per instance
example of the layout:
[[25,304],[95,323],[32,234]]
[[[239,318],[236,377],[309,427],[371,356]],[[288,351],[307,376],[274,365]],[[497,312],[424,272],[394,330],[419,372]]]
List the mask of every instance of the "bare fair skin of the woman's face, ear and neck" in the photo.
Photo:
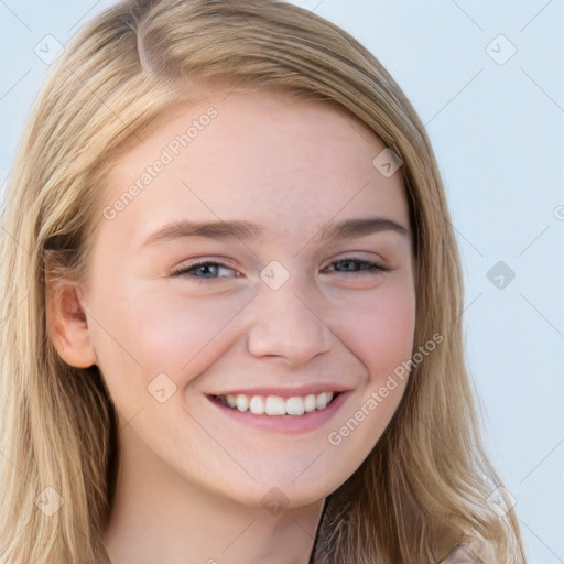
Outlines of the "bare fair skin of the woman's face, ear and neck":
[[[384,144],[345,111],[283,94],[210,93],[117,155],[104,205],[209,106],[217,117],[133,202],[111,220],[100,213],[88,280],[48,297],[59,355],[100,368],[120,422],[104,539],[113,564],[307,563],[325,498],[367,457],[406,383],[329,443],[410,358],[415,325],[402,175],[380,174],[372,160]],[[375,216],[408,232],[319,237],[332,221]],[[264,232],[143,246],[181,219],[247,220]],[[359,270],[350,257],[386,270]],[[171,275],[196,258],[226,267]],[[289,274],[278,290],[260,278],[273,260]],[[163,403],[148,392],[160,373],[176,386]],[[234,422],[206,395],[318,381],[351,391],[332,420],[297,435]],[[275,514],[261,502],[272,488],[285,506]]]

